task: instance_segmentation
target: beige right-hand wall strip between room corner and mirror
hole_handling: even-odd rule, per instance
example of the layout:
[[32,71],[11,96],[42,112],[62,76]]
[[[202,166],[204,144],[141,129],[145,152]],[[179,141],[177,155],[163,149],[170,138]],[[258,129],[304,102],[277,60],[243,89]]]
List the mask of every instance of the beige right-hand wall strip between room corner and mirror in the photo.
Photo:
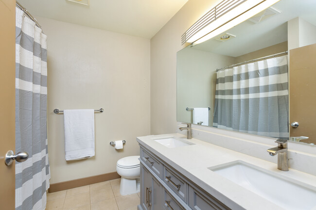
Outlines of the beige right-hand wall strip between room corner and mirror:
[[220,0],[189,0],[150,40],[151,133],[176,131],[176,52],[181,35]]

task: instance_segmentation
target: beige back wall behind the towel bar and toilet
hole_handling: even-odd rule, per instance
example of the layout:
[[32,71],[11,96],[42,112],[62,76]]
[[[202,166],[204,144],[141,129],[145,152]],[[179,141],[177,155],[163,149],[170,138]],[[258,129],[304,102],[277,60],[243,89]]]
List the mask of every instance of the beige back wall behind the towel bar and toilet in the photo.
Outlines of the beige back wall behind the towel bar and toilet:
[[[150,40],[36,17],[48,36],[48,148],[51,184],[116,171],[150,134]],[[63,114],[95,113],[95,157],[65,161]],[[110,141],[126,140],[123,151]]]

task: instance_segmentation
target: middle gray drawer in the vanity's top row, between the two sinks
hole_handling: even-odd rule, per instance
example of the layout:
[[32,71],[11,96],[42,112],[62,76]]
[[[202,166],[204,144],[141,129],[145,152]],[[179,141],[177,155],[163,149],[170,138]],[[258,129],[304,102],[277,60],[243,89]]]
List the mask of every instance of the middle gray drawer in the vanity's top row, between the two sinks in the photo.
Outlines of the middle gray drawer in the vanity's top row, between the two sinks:
[[174,191],[184,202],[187,203],[188,186],[187,183],[171,169],[163,167],[163,181]]

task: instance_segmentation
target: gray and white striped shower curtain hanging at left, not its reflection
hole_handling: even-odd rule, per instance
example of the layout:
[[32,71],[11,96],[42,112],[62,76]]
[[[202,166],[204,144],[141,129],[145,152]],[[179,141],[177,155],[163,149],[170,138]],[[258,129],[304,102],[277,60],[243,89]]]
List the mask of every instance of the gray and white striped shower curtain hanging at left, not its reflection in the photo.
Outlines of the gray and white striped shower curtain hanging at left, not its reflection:
[[45,210],[49,188],[46,35],[16,8],[16,210]]

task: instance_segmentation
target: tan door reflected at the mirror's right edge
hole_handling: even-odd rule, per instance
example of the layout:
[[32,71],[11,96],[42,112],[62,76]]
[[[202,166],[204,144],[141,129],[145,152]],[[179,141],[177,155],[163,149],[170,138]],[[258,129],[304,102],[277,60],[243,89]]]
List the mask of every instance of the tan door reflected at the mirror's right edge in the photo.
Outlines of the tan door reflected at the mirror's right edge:
[[316,44],[290,50],[290,136],[307,136],[301,140],[316,145]]

